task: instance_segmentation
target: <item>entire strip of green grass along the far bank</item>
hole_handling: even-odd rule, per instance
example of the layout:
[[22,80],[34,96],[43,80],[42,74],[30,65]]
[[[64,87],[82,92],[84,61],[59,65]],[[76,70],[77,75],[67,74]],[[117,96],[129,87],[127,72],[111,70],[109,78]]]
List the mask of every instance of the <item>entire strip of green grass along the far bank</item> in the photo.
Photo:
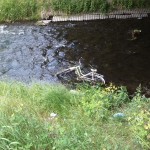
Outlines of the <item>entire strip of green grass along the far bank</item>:
[[41,17],[41,11],[75,14],[107,12],[113,9],[146,8],[147,0],[1,0],[0,22],[34,20]]

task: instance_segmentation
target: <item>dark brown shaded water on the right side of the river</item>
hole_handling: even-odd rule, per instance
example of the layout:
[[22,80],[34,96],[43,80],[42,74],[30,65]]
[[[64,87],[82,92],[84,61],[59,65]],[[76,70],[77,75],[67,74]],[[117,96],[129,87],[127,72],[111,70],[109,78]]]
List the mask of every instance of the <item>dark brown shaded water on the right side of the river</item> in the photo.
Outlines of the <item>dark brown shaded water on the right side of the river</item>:
[[[131,31],[142,30],[137,40]],[[67,31],[67,41],[76,45],[66,52],[70,60],[82,56],[104,74],[107,82],[125,85],[131,91],[150,80],[150,19],[101,20],[78,23]]]

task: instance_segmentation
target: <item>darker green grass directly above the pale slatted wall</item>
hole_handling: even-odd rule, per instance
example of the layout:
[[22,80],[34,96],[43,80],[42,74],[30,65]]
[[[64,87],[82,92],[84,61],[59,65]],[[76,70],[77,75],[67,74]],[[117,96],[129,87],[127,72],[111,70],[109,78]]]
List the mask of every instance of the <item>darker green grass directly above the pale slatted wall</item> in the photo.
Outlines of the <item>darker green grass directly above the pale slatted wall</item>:
[[134,9],[150,7],[147,0],[52,0],[51,8],[67,14],[109,12],[113,9]]

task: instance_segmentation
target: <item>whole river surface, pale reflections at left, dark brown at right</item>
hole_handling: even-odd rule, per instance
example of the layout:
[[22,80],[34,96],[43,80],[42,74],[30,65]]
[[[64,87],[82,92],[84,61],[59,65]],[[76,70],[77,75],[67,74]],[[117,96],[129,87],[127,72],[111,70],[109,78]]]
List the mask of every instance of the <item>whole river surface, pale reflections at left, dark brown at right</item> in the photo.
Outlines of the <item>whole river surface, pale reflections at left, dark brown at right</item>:
[[[134,29],[142,31],[137,40]],[[150,19],[0,25],[1,79],[59,82],[54,75],[80,57],[107,83],[149,86]]]

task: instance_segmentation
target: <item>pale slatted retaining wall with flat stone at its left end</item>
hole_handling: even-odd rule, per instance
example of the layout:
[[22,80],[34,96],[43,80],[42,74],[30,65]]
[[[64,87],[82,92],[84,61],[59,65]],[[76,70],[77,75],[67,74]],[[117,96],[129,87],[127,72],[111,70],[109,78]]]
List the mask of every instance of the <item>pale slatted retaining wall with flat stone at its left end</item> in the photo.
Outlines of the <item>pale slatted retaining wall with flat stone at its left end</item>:
[[150,16],[150,9],[135,9],[135,10],[116,10],[109,13],[84,13],[84,14],[56,14],[51,19],[43,19],[38,21],[38,25],[47,25],[50,22],[69,22],[69,21],[88,21],[88,20],[103,20],[103,19],[142,19]]

